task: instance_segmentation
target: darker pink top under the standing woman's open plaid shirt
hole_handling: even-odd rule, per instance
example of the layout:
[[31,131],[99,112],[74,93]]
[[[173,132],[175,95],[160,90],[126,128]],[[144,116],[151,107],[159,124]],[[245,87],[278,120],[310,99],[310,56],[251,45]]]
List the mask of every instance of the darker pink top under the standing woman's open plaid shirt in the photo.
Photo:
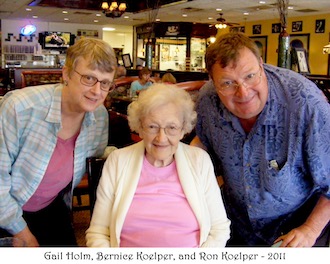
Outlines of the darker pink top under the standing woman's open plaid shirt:
[[45,208],[72,181],[74,147],[78,135],[79,133],[66,140],[57,137],[45,176],[35,193],[24,204],[24,211],[36,212]]

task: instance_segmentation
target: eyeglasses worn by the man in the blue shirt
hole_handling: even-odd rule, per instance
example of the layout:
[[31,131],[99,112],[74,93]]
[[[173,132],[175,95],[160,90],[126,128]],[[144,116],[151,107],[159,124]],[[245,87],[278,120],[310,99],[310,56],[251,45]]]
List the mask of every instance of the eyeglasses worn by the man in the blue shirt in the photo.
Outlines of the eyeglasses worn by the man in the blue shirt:
[[[260,72],[260,74],[258,74]],[[261,66],[259,67],[259,70],[256,73],[250,73],[248,74],[242,83],[237,83],[236,81],[225,81],[223,83],[220,83],[218,86],[218,91],[224,95],[229,96],[233,95],[237,92],[238,87],[241,85],[244,85],[245,87],[251,87],[258,85],[261,80]]]

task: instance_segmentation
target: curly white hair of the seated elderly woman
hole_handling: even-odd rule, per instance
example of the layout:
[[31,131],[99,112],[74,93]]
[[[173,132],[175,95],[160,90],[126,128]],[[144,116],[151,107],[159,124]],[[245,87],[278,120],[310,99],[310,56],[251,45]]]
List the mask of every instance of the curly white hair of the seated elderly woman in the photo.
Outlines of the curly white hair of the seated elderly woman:
[[196,124],[197,113],[195,104],[189,93],[172,84],[155,83],[143,90],[136,101],[133,101],[127,109],[128,124],[132,131],[140,133],[142,120],[149,113],[166,104],[173,103],[180,109],[178,114],[183,117],[184,134],[190,133]]

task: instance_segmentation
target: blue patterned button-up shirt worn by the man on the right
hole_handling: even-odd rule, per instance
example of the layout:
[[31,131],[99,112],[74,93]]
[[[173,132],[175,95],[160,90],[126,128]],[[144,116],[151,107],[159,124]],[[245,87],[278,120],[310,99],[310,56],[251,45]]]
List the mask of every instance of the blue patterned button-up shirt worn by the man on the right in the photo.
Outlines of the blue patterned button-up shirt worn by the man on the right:
[[264,65],[269,95],[253,129],[201,90],[196,132],[224,177],[233,227],[251,244],[271,244],[281,223],[312,194],[330,198],[330,105],[308,79]]

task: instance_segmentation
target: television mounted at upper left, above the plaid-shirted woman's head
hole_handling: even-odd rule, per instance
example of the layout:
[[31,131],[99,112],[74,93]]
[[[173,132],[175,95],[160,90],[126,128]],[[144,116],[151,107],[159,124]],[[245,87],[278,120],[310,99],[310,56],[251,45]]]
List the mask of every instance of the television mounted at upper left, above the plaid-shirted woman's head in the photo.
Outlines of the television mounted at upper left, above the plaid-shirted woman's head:
[[70,32],[44,31],[39,33],[39,43],[43,49],[66,49],[73,45],[74,35]]

